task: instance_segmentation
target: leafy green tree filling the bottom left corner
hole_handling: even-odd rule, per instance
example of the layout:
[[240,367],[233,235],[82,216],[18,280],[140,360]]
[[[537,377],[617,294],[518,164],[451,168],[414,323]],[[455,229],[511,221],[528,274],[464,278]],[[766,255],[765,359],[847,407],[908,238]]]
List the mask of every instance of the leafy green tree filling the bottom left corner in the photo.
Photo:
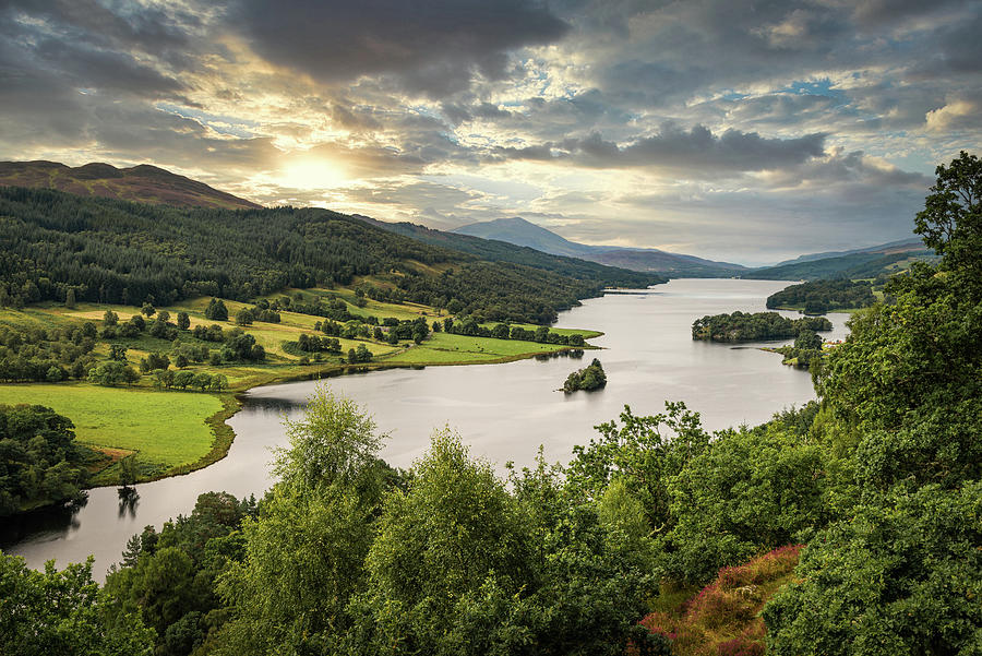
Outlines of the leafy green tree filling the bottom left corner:
[[152,656],[153,630],[136,615],[107,617],[92,562],[43,572],[0,553],[0,653],[17,656]]

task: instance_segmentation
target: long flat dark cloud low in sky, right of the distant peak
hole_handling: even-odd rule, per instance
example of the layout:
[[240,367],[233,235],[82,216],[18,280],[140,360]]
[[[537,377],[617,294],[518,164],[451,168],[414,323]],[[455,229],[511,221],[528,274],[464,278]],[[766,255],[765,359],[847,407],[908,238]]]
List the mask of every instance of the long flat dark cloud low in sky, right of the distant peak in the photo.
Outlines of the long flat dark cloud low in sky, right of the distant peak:
[[825,152],[825,134],[800,139],[766,139],[754,132],[728,130],[715,135],[703,126],[688,131],[672,124],[627,145],[604,141],[594,133],[586,139],[525,148],[495,148],[494,155],[510,159],[568,159],[594,168],[661,167],[719,175],[758,171],[801,164]]

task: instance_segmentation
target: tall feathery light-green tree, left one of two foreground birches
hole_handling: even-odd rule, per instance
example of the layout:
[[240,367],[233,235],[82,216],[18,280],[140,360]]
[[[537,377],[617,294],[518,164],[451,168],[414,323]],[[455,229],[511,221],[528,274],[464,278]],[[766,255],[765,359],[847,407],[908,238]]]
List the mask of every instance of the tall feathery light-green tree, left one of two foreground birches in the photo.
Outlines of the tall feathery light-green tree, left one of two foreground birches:
[[289,446],[276,452],[273,496],[242,532],[246,558],[219,592],[235,619],[219,654],[344,653],[349,598],[363,586],[375,536],[384,436],[352,401],[318,385]]

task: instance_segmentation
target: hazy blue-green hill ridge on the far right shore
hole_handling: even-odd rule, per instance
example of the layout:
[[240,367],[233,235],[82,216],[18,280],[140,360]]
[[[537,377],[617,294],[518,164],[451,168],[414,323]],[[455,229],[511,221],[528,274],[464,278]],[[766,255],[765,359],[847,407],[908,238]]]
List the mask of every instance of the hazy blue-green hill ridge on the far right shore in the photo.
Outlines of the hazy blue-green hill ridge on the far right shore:
[[814,281],[818,278],[874,278],[909,266],[913,260],[934,253],[920,239],[890,241],[851,251],[801,255],[741,274],[740,277],[766,281]]

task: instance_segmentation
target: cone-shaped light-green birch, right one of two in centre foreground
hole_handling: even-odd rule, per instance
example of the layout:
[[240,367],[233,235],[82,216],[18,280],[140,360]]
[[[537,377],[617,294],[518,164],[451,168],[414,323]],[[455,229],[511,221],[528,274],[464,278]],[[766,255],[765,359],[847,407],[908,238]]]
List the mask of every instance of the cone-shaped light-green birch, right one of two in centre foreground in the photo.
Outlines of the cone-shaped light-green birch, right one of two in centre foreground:
[[469,458],[458,437],[435,434],[415,469],[409,491],[386,499],[363,612],[378,631],[373,641],[435,653],[456,599],[489,579],[515,594],[534,577],[532,544],[504,485],[488,463]]

